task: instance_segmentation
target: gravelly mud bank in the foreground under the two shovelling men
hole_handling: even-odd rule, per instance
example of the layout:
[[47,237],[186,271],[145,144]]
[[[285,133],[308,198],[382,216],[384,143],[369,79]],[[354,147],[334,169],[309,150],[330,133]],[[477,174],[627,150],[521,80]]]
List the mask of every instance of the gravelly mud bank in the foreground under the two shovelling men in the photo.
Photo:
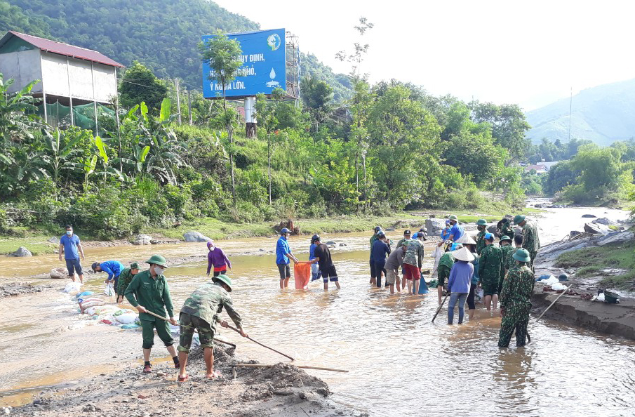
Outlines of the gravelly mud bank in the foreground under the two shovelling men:
[[[255,364],[234,357],[234,348],[214,348],[215,370],[221,376],[204,378],[202,351],[189,357],[190,378],[176,382],[177,371],[168,359],[154,361],[153,372],[141,364],[115,365],[101,373],[62,386],[47,388],[29,404],[11,410],[15,416],[364,416],[331,402],[326,383],[290,364],[269,368],[235,367]],[[114,368],[114,369],[113,369]],[[200,414],[203,415],[203,414]],[[368,416],[368,414],[366,414]]]

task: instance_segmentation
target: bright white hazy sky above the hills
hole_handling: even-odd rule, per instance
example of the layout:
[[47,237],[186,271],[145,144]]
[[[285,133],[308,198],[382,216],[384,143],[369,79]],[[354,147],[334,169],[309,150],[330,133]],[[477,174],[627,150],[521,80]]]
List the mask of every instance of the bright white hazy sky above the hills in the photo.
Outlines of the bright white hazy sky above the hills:
[[[285,28],[335,72],[354,42],[361,71],[434,95],[542,107],[593,86],[635,78],[631,1],[213,0],[262,29]],[[364,16],[374,24],[354,30]]]

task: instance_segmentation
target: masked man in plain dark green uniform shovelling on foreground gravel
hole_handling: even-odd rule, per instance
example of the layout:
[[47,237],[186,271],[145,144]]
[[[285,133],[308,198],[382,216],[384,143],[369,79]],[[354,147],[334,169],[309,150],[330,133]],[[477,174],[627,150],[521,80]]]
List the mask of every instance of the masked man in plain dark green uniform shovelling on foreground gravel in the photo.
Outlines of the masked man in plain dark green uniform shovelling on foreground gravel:
[[167,268],[166,258],[163,258],[161,255],[152,255],[152,257],[145,262],[150,264],[150,269],[136,274],[130,284],[128,284],[128,288],[123,295],[126,296],[128,302],[131,303],[133,307],[136,307],[139,312],[143,336],[143,373],[150,373],[152,372],[150,350],[152,350],[152,346],[154,345],[155,328],[156,334],[163,340],[166,348],[168,348],[168,352],[172,355],[175,368],[179,367],[179,358],[174,349],[174,340],[170,333],[168,322],[147,313],[153,312],[161,317],[166,317],[166,310],[168,310],[170,323],[176,326],[174,307],[172,305],[172,298],[170,298],[170,291],[168,290],[168,282],[166,281],[166,277],[163,277],[163,272]]

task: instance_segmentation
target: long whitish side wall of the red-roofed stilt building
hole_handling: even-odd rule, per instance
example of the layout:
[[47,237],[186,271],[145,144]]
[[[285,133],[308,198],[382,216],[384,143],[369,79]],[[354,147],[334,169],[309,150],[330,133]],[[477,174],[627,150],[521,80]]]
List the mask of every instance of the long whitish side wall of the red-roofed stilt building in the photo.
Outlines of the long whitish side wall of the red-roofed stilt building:
[[42,74],[46,94],[98,102],[116,96],[115,67],[109,65],[43,51]]

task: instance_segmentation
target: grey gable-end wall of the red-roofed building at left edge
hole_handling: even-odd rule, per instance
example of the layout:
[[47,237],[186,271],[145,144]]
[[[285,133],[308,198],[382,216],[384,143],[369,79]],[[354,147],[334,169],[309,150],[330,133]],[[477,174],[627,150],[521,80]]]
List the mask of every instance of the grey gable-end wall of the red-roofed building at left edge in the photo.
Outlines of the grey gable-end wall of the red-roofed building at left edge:
[[[42,79],[40,66],[40,50],[18,51],[0,54],[0,72],[4,74],[4,80],[13,78],[13,85],[8,93],[22,90],[27,84],[36,79]],[[32,93],[42,92],[42,83],[36,84]]]

